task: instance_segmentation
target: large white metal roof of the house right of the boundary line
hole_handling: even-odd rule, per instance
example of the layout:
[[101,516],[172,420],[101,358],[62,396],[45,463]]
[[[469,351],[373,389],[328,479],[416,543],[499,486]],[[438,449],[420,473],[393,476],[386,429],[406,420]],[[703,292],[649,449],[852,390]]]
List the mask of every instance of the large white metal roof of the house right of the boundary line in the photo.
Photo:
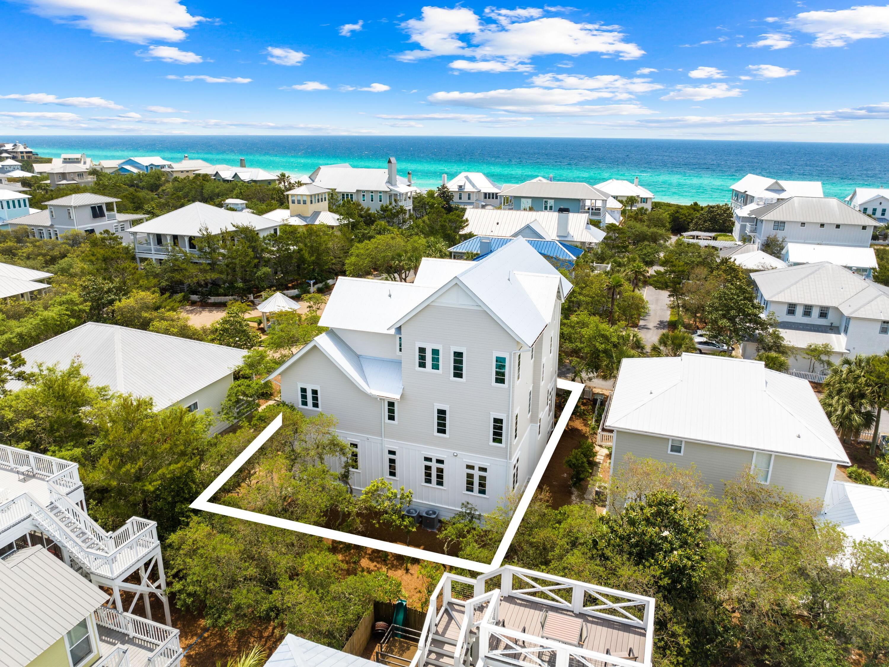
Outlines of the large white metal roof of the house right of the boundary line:
[[[738,397],[748,409],[726,410]],[[849,464],[812,386],[761,361],[688,353],[624,359],[605,426]]]

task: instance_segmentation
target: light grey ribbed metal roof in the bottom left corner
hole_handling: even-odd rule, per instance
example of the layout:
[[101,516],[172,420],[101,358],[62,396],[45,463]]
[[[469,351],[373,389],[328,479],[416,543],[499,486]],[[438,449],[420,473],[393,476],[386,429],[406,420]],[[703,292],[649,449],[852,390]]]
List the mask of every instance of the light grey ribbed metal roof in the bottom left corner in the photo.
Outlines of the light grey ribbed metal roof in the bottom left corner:
[[0,560],[0,667],[22,667],[108,599],[43,547]]

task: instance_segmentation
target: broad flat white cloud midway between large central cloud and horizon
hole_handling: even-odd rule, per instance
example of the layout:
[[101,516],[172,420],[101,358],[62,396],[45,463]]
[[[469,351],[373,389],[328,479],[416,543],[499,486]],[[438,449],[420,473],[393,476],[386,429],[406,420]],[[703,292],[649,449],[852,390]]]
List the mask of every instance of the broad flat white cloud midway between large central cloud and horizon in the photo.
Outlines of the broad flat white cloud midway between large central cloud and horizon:
[[580,102],[602,97],[600,92],[552,88],[510,88],[486,92],[434,92],[428,100],[434,104],[462,107],[495,108],[511,113],[549,116],[602,116],[649,114],[638,104],[582,105]]

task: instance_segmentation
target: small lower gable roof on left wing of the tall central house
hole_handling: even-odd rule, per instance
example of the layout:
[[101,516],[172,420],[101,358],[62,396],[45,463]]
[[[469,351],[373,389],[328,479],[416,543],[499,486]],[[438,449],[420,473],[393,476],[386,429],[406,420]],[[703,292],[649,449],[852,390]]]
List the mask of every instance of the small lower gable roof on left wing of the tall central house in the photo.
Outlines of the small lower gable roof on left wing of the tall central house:
[[284,373],[289,366],[305,355],[308,350],[320,350],[333,365],[342,371],[356,387],[370,396],[401,398],[404,389],[401,381],[401,359],[384,359],[356,354],[332,331],[326,331],[303,345],[291,358],[268,374],[267,381]]

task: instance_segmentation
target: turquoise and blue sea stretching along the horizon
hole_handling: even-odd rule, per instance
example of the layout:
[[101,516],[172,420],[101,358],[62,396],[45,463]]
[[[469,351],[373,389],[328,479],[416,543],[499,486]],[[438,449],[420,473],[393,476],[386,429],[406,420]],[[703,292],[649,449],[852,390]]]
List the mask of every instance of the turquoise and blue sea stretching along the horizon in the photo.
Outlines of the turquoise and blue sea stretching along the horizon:
[[856,187],[889,185],[889,145],[667,139],[547,139],[496,137],[313,136],[36,136],[12,137],[46,157],[81,153],[94,160],[135,155],[179,161],[184,154],[213,165],[248,166],[302,175],[317,165],[356,167],[398,160],[421,188],[443,173],[483,172],[498,183],[552,174],[557,181],[596,184],[610,178],[650,189],[661,201],[728,201],[729,186],[746,173],[790,181],[822,181],[824,194],[844,198]]

